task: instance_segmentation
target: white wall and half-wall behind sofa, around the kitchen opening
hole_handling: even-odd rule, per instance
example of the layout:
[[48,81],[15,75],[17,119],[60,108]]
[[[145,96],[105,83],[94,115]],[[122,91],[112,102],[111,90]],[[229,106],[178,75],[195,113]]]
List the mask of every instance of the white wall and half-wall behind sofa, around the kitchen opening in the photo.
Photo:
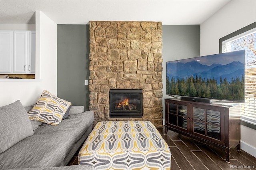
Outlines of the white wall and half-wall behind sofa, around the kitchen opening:
[[24,106],[31,105],[44,89],[57,95],[57,24],[40,11],[36,11],[35,76],[35,80],[1,79],[0,106],[16,100]]

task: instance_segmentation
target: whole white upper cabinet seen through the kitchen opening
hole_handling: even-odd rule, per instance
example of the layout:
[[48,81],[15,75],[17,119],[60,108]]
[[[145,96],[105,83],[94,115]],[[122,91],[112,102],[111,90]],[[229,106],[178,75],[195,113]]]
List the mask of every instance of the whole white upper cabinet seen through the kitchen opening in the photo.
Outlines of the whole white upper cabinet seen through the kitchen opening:
[[[11,38],[8,42],[7,38],[2,38],[1,31],[1,69],[0,73],[12,73],[12,74],[33,74],[35,73],[35,31],[10,31]],[[6,36],[7,37],[7,36]],[[3,55],[2,55],[3,49]],[[10,55],[6,55],[7,49],[10,49]],[[2,61],[7,63],[10,61],[10,69],[4,71],[2,69]],[[3,64],[4,65],[4,64]]]

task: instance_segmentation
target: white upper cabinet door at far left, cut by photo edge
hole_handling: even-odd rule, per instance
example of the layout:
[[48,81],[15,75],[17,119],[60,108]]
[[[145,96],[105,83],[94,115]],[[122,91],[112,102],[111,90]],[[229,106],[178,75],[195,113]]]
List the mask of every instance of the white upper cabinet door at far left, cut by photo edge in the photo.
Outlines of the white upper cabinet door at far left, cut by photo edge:
[[0,32],[0,73],[12,72],[12,32]]

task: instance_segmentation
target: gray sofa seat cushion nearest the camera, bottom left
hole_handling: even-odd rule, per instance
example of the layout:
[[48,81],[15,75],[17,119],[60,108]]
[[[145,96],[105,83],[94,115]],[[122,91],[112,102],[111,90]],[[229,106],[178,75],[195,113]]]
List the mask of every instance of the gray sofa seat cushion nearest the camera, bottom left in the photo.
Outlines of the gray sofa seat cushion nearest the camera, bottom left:
[[59,166],[74,144],[70,132],[29,136],[0,154],[0,169]]

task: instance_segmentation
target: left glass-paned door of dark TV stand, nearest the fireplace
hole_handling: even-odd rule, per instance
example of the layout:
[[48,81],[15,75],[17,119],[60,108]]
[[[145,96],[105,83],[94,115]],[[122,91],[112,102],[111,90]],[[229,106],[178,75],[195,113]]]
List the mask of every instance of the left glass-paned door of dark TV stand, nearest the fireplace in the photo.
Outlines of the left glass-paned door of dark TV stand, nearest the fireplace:
[[188,106],[179,102],[167,102],[168,126],[189,130]]

